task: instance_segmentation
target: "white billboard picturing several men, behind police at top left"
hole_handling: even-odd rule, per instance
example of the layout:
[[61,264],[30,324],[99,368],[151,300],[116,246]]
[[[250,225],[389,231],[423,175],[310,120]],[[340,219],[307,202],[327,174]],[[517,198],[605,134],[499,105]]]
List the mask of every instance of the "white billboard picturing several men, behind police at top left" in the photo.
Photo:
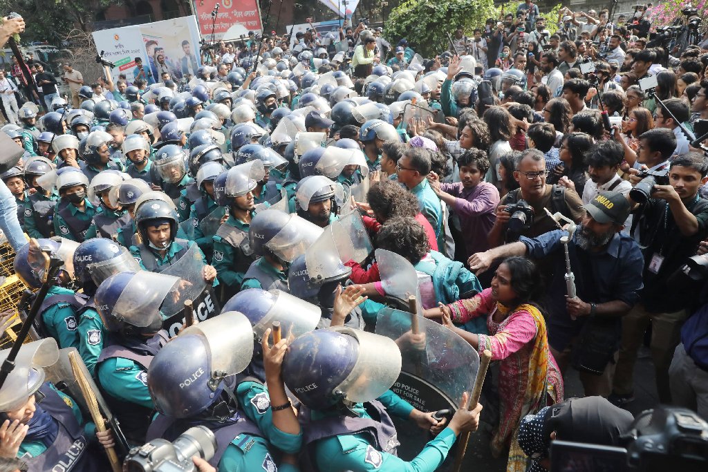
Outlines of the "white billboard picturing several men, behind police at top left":
[[[135,58],[142,59],[143,72],[149,84],[161,81],[160,71],[168,71],[171,79],[195,74],[200,67],[199,30],[194,16],[156,21],[96,31],[93,41],[98,52],[115,64],[113,81],[125,74],[132,83],[140,74]],[[161,62],[160,62],[161,61]]]

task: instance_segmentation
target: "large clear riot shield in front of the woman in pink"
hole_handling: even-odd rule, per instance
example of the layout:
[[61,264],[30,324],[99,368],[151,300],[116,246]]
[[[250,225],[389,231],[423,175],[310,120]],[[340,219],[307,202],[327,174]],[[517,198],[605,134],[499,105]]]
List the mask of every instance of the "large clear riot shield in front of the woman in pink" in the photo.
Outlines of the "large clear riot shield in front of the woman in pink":
[[[399,346],[401,376],[392,390],[418,410],[455,410],[462,394],[472,391],[479,354],[445,326],[386,307],[377,315],[375,332]],[[422,340],[416,340],[416,334]]]

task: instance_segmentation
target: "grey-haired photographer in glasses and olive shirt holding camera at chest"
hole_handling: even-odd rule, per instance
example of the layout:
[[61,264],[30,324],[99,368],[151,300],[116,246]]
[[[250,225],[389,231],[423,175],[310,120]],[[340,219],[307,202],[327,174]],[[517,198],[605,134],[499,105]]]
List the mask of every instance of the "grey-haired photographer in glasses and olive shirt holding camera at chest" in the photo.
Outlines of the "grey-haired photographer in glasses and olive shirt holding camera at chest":
[[[580,222],[583,218],[583,202],[574,190],[548,185],[546,177],[546,161],[538,149],[528,149],[514,161],[514,180],[519,184],[517,190],[512,190],[501,200],[496,209],[496,221],[489,231],[489,247],[496,248],[510,236],[528,236],[533,238],[547,231],[556,229],[555,222],[549,218],[544,208],[552,213],[561,212],[573,221]],[[520,200],[530,205],[533,217],[529,218],[525,227],[518,234],[508,234],[508,223],[512,213],[511,207]],[[508,208],[509,207],[509,208]]]

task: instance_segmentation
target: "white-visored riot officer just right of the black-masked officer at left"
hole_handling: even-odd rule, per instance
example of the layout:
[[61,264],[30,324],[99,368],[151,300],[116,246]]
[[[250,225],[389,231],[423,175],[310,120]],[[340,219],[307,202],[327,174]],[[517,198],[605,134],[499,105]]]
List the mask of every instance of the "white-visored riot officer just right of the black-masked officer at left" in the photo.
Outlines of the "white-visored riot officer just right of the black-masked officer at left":
[[86,240],[96,237],[113,239],[118,236],[118,229],[130,221],[130,214],[120,206],[113,205],[109,197],[110,190],[120,185],[125,177],[127,175],[118,171],[103,171],[91,180],[89,200],[100,203],[86,231]]

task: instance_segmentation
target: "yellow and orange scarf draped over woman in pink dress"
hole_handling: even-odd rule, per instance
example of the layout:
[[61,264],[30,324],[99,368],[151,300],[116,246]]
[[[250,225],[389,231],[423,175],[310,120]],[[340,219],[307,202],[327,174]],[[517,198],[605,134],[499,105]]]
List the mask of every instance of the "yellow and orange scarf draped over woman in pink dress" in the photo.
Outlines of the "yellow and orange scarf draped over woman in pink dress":
[[[497,304],[497,309],[506,309],[506,307]],[[527,311],[530,313],[537,328],[536,337],[533,341],[533,350],[529,357],[528,380],[519,418],[521,419],[526,415],[538,413],[541,408],[547,406],[547,396],[552,398],[553,403],[562,401],[563,381],[559,372],[555,369],[549,369],[551,356],[546,321],[541,311],[531,304],[520,305],[514,311]],[[556,381],[550,381],[552,378],[556,378]],[[519,428],[517,426],[511,439],[509,461],[506,465],[507,472],[523,472],[527,469],[529,458],[519,446],[518,432]]]

